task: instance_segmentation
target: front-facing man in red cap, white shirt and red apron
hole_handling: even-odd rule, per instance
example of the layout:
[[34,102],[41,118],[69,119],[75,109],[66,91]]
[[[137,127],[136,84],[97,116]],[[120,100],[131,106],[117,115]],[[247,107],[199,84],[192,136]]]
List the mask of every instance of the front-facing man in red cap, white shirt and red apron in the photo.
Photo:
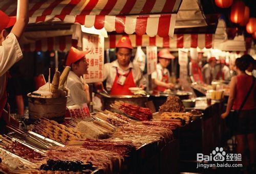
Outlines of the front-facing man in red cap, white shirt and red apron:
[[[117,60],[104,64],[103,80],[106,80],[106,90],[111,95],[132,95],[130,87],[145,88],[142,71],[131,62],[132,49],[129,37],[123,36],[116,45]],[[103,89],[101,82],[95,85]]]

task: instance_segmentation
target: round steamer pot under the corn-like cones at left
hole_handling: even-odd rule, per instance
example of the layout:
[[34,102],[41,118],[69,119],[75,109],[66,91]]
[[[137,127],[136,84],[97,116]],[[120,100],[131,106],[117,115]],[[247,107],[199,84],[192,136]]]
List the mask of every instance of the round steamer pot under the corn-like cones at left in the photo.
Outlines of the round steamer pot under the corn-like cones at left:
[[[34,97],[32,95],[36,95]],[[58,98],[41,98],[40,94],[28,93],[29,117],[38,119],[61,120],[65,118],[68,96]]]

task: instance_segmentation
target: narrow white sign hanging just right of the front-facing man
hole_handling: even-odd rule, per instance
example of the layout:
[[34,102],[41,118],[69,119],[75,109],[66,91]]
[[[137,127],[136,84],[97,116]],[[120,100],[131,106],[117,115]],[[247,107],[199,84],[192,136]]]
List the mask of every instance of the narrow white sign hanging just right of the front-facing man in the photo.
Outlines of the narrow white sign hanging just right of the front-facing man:
[[156,70],[157,66],[157,47],[147,46],[146,47],[146,68],[147,74],[151,74]]

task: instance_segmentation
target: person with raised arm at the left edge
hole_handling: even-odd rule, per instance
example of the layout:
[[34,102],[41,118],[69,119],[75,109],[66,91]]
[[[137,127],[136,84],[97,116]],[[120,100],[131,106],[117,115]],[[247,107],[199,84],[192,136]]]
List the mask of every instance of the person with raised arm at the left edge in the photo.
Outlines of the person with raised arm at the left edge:
[[17,12],[16,20],[0,10],[0,118],[7,101],[8,69],[23,57],[18,40],[28,23],[28,0],[18,1]]

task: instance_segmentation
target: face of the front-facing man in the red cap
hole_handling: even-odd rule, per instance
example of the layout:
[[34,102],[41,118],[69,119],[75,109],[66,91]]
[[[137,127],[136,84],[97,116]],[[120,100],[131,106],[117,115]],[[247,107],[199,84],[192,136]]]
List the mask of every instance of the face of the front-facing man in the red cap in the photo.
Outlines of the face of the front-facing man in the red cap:
[[119,48],[116,53],[117,61],[122,66],[129,65],[131,56],[132,52],[129,48]]

